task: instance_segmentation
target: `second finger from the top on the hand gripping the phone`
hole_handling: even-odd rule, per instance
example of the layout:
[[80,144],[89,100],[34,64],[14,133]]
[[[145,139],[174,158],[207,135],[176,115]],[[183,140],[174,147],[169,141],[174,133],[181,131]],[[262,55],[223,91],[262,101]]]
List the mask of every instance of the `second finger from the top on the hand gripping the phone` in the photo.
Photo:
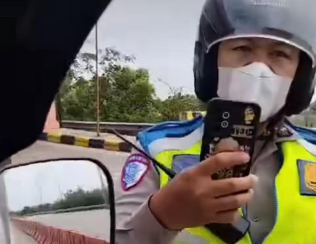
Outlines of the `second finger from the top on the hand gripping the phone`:
[[214,180],[212,182],[212,190],[210,191],[210,194],[216,198],[232,195],[253,188],[257,182],[258,177],[252,174],[240,178]]

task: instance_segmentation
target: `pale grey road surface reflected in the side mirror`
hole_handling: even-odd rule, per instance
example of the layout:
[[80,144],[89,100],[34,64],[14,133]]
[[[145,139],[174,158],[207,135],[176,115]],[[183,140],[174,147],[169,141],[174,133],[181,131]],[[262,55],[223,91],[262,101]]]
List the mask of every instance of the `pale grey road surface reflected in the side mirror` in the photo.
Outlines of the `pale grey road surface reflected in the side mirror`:
[[110,241],[110,211],[107,209],[36,215],[27,219]]

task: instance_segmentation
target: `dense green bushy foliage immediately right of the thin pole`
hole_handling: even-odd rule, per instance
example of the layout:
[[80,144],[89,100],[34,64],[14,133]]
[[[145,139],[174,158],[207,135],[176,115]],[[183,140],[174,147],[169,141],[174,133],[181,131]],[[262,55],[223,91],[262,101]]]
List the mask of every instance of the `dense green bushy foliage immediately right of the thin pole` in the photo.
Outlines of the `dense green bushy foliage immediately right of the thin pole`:
[[[107,80],[107,79],[105,79]],[[107,80],[102,96],[102,119],[109,122],[158,122],[161,116],[156,104],[154,86],[145,69],[120,67]],[[103,84],[103,83],[102,83]]]

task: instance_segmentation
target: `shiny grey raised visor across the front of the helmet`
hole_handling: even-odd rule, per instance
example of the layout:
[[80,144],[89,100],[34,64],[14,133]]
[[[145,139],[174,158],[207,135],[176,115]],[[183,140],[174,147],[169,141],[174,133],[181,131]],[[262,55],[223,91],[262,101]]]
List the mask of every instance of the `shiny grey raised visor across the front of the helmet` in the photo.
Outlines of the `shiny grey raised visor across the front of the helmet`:
[[306,52],[315,67],[315,9],[316,0],[208,0],[201,17],[207,51],[228,39],[268,38]]

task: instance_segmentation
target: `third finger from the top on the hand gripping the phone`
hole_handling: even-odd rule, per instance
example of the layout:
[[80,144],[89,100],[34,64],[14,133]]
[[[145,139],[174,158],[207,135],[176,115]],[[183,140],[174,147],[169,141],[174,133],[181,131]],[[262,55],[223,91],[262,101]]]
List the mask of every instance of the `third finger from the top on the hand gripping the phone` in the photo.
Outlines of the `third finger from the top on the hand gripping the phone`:
[[253,190],[250,189],[245,193],[218,198],[215,200],[213,207],[214,207],[214,210],[217,212],[238,209],[243,204],[249,203],[252,199],[252,196],[253,196]]

